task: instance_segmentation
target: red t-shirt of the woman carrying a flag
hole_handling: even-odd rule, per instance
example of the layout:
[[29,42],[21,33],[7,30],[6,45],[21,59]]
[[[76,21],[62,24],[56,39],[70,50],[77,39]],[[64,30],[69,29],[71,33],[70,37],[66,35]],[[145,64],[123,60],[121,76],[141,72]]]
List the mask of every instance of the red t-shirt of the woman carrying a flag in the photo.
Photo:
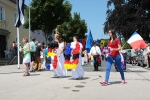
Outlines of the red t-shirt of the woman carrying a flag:
[[[113,42],[109,41],[108,42],[108,47],[115,49],[115,48],[118,48],[118,44],[120,44],[120,41],[118,38],[116,38],[115,41],[113,41]],[[111,51],[109,54],[109,56],[112,56],[112,57],[118,56],[118,55],[120,55],[119,51]]]

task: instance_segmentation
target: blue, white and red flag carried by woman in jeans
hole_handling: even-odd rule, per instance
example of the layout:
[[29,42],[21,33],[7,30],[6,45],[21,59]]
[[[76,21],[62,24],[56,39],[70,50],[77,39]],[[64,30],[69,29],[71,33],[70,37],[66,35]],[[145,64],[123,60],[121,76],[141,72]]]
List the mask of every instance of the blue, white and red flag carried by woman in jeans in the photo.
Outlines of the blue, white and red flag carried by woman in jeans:
[[135,50],[146,48],[147,46],[143,38],[137,32],[132,34],[127,43],[130,44],[130,46]]

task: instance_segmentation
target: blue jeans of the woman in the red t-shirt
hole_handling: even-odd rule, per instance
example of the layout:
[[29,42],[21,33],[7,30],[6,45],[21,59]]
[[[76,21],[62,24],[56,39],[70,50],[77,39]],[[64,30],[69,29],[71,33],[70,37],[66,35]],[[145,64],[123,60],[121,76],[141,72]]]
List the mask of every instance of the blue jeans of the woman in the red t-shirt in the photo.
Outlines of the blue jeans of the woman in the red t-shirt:
[[125,80],[124,72],[123,72],[123,70],[121,68],[121,56],[118,55],[118,56],[115,56],[115,57],[111,57],[111,56],[107,57],[105,81],[108,82],[108,80],[109,80],[109,75],[110,75],[110,70],[111,70],[111,66],[112,66],[113,60],[115,60],[115,63],[117,65],[117,67],[118,67],[118,70],[120,72],[122,80]]

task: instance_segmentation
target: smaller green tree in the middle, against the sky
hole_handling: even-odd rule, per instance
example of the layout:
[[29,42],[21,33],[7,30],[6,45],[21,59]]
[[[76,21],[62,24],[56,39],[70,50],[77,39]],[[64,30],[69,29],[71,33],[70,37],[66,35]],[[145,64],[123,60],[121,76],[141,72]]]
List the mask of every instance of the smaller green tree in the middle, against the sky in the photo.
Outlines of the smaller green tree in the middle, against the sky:
[[80,14],[74,13],[74,17],[67,23],[63,23],[58,27],[60,37],[66,42],[71,42],[73,36],[78,36],[80,39],[86,38],[87,24],[85,20],[80,18]]

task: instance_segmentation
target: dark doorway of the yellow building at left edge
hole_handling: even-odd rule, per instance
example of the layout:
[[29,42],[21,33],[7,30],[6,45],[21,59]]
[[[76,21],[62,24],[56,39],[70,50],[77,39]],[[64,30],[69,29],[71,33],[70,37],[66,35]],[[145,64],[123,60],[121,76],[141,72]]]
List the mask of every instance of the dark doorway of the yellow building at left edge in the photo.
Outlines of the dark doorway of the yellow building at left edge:
[[0,58],[5,58],[4,50],[6,50],[6,36],[0,35]]

